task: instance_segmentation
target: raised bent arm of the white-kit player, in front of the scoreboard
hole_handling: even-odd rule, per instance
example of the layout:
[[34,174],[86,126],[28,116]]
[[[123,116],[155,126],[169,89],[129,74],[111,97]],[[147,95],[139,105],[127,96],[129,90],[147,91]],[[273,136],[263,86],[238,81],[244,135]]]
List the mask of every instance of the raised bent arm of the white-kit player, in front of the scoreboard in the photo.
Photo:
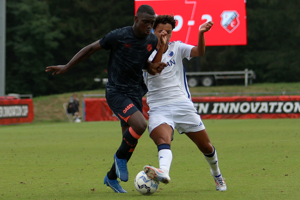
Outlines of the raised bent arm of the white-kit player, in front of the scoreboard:
[[203,56],[205,52],[205,40],[204,40],[204,32],[207,32],[212,28],[214,23],[209,21],[201,25],[199,30],[199,38],[197,47],[193,47],[191,51],[191,57]]

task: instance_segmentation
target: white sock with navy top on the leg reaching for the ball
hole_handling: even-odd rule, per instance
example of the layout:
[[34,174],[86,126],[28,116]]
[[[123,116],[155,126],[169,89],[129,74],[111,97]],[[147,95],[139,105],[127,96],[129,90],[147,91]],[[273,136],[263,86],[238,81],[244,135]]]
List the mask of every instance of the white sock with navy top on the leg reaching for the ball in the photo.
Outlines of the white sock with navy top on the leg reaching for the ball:
[[159,168],[169,175],[171,162],[172,162],[172,151],[169,144],[159,144],[157,145],[158,149],[158,159],[159,159]]

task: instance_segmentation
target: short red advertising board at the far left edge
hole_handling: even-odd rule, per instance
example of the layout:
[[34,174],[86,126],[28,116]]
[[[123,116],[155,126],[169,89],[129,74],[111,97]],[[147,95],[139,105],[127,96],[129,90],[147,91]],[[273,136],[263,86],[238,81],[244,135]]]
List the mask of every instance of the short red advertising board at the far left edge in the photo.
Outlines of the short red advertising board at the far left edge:
[[31,123],[32,121],[32,99],[0,98],[0,125]]

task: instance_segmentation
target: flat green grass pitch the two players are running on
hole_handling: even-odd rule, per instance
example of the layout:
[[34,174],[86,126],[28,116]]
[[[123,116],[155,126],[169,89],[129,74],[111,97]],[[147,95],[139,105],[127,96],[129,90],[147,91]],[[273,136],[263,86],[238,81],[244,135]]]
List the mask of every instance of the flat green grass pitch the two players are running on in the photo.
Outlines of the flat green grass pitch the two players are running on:
[[227,191],[188,137],[174,134],[171,183],[151,196],[135,191],[144,165],[158,167],[146,131],[128,163],[127,194],[103,184],[121,142],[119,122],[0,126],[0,199],[298,199],[300,119],[204,120]]

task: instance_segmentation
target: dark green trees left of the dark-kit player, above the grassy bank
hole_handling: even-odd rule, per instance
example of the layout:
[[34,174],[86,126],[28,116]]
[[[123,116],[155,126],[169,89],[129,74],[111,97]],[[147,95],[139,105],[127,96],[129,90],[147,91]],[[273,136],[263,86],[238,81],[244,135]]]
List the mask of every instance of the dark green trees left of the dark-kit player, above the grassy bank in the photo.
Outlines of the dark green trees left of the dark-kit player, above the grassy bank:
[[[63,76],[45,73],[115,28],[133,25],[133,1],[7,0],[6,93],[34,96],[103,87],[109,51]],[[113,8],[113,9],[112,9]]]

